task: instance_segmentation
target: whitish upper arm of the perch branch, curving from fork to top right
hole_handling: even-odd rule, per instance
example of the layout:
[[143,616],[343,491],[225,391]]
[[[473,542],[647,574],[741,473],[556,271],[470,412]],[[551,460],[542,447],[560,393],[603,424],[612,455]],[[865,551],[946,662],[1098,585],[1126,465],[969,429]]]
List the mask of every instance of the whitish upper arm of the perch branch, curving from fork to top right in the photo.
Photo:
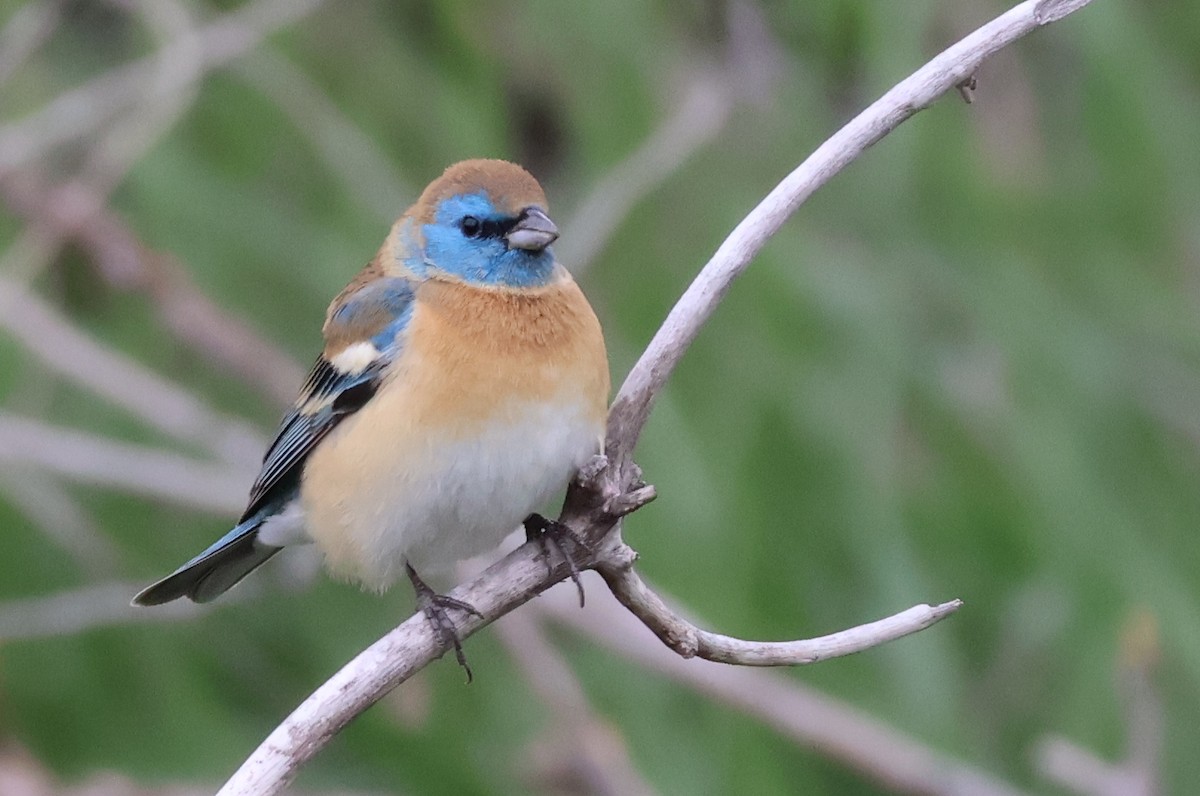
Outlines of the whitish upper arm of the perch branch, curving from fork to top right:
[[608,415],[605,448],[614,465],[611,478],[626,477],[654,400],[733,280],[814,191],[871,144],[973,74],[989,55],[1088,1],[1027,0],[988,23],[876,100],[767,194],[688,287],[618,391]]

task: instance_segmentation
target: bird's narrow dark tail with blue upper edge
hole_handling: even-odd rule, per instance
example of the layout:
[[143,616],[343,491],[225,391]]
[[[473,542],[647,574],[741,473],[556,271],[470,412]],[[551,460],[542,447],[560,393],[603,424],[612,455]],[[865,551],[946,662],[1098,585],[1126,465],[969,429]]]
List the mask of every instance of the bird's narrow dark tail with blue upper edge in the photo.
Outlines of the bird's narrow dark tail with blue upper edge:
[[283,549],[258,540],[260,525],[262,520],[252,519],[236,526],[196,558],[138,592],[133,604],[162,605],[180,597],[193,603],[216,599]]

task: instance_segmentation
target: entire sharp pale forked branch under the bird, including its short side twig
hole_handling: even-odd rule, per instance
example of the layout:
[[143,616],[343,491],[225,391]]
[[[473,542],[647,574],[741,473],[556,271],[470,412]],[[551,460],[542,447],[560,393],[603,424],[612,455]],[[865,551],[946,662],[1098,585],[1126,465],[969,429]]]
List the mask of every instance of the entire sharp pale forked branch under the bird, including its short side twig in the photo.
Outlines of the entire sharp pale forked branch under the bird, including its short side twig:
[[[587,541],[571,544],[580,569],[595,569],[617,599],[670,648],[750,666],[784,666],[851,654],[916,633],[961,605],[917,605],[895,616],[802,641],[745,641],[702,630],[672,611],[634,569],[637,553],[620,538],[622,517],[654,499],[641,481],[632,451],[654,400],[733,280],[796,209],[869,146],[917,110],[976,73],[989,55],[1062,19],[1088,0],[1027,0],[949,47],[896,84],[822,144],[780,182],[721,244],[668,313],[630,371],[608,414],[607,460],[589,462],[568,490],[559,517]],[[474,605],[480,616],[457,623],[466,638],[569,576],[569,562],[541,559],[538,545],[522,545],[450,595]],[[221,796],[277,794],[304,762],[355,716],[445,650],[424,616],[414,616],[371,645],[305,700],[220,791]]]

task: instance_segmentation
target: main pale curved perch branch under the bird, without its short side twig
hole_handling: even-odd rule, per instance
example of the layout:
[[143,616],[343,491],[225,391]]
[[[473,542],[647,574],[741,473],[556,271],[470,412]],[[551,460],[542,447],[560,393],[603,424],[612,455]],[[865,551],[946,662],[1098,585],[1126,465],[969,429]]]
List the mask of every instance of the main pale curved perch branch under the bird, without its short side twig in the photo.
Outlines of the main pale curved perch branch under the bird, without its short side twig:
[[[599,487],[576,484],[568,492],[560,519],[594,543],[593,551],[586,558],[581,556],[588,567],[602,565],[606,556],[623,545],[619,516],[611,507],[622,499],[619,496],[640,491],[631,453],[654,397],[732,280],[746,268],[767,238],[818,185],[918,109],[952,90],[988,55],[1084,5],[1086,0],[1030,0],[967,36],[834,134],[738,225],[671,311],[618,393],[608,417],[607,436],[616,466],[586,479],[600,481]],[[642,495],[653,497],[653,492]],[[632,510],[636,503],[628,501],[623,508]],[[474,605],[482,615],[463,617],[456,627],[460,638],[469,636],[566,576],[565,562],[554,562],[547,573],[546,562],[539,559],[532,547],[523,545],[480,577],[454,589],[454,598]],[[242,764],[221,794],[268,796],[280,792],[300,766],[352,718],[443,652],[424,616],[418,614],[409,618],[305,700]]]

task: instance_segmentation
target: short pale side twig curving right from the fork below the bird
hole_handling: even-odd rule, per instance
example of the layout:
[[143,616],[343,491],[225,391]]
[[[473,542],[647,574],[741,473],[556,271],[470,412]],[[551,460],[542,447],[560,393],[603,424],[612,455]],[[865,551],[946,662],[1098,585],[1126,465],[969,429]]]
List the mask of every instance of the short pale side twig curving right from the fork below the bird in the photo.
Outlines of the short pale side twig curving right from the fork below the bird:
[[797,666],[862,652],[936,624],[962,606],[961,600],[916,605],[907,611],[817,639],[745,641],[701,630],[667,608],[634,571],[635,553],[622,544],[596,567],[608,588],[630,614],[683,658],[703,658],[740,666]]

